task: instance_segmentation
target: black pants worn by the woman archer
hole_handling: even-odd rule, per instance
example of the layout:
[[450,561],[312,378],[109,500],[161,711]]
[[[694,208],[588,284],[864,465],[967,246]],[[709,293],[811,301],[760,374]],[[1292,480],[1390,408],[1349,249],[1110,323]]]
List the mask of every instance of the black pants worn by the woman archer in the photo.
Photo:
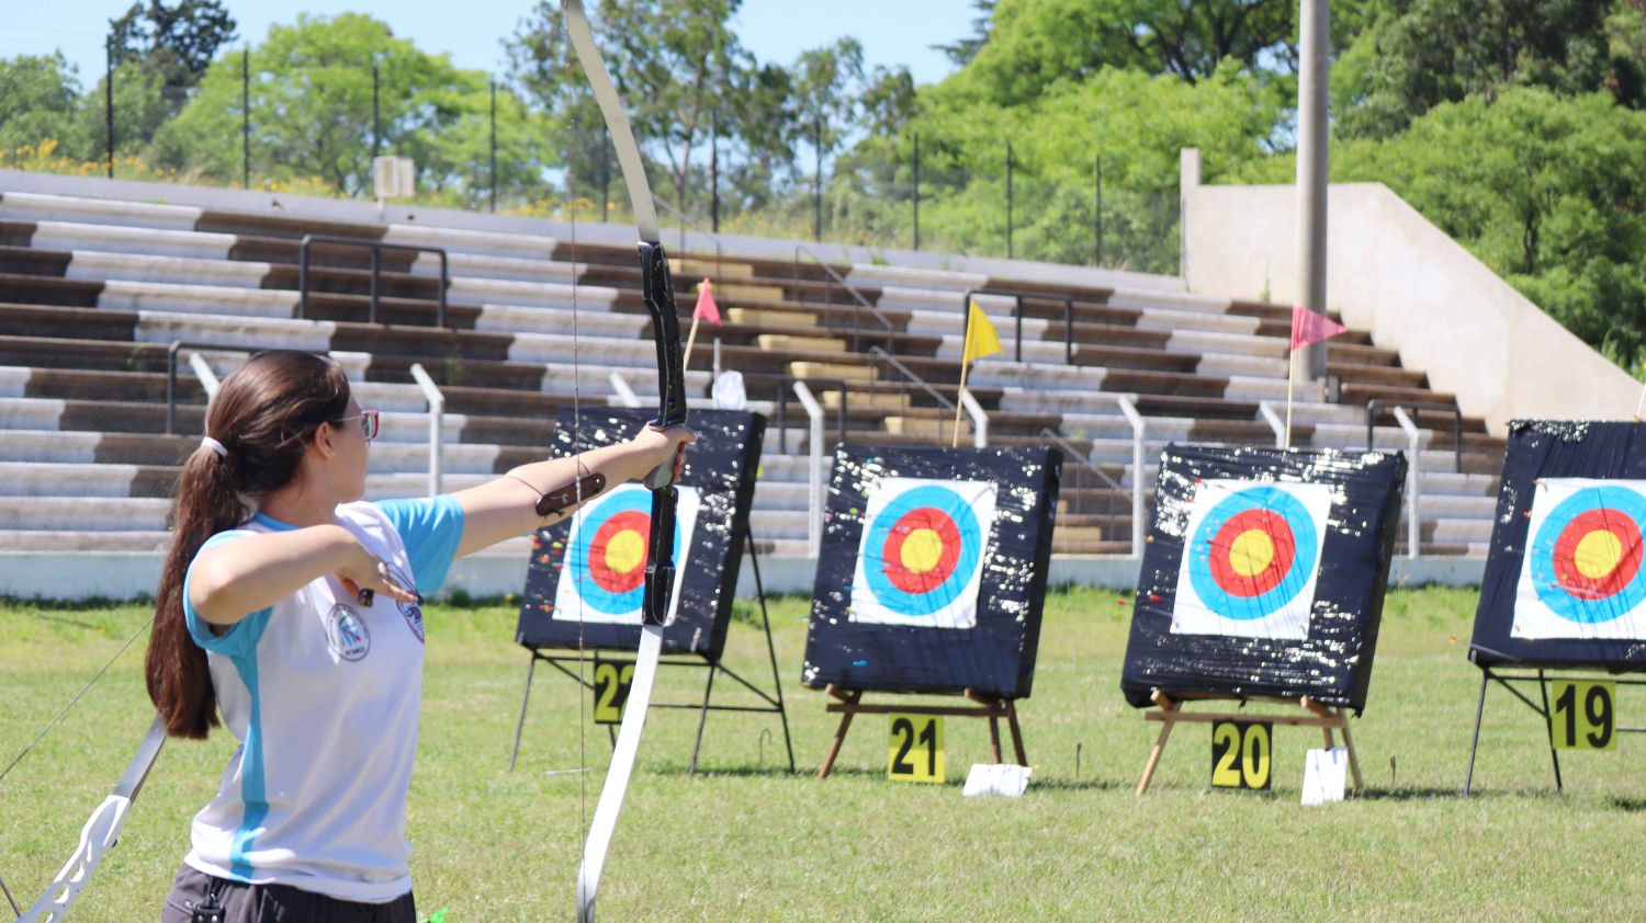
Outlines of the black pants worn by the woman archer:
[[244,885],[207,875],[188,862],[171,882],[160,923],[191,923],[209,887],[222,905],[224,923],[416,923],[412,892],[388,903],[357,903],[291,885]]

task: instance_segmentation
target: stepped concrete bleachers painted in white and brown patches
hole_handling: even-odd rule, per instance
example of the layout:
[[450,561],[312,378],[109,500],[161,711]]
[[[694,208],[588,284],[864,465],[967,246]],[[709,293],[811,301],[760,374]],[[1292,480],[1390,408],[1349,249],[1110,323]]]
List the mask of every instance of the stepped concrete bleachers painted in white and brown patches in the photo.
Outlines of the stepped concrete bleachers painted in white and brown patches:
[[[446,326],[438,324],[438,260],[392,248],[382,255],[379,322],[367,321],[372,273],[362,248],[313,247],[303,311],[305,234],[444,248]],[[767,554],[802,558],[807,548],[810,446],[792,382],[807,380],[830,408],[830,444],[841,436],[841,401],[848,443],[946,444],[951,411],[869,350],[895,355],[956,400],[963,299],[974,288],[1044,296],[1024,301],[1022,360],[1016,299],[978,296],[1007,354],[978,362],[968,390],[988,411],[989,444],[1044,444],[1052,431],[1090,452],[1085,464],[1065,466],[1053,551],[1128,553],[1131,484],[1152,484],[1167,441],[1274,444],[1261,405],[1286,401],[1284,306],[1192,295],[1172,280],[1141,288],[1096,271],[1090,285],[1047,281],[1034,263],[1002,275],[835,265],[853,295],[821,265],[770,250],[675,260],[681,309],[695,299],[691,283],[714,275],[726,314],[700,332],[686,375],[693,403],[708,405],[716,352],[708,341],[716,337],[721,364],[742,372],[752,408],[772,416],[752,517]],[[446,400],[448,490],[540,457],[561,406],[619,400],[614,373],[635,393],[655,395],[632,247],[435,222],[0,192],[0,551],[163,546],[166,497],[198,444],[206,401],[179,354],[174,433],[166,434],[174,341],[201,344],[219,375],[250,349],[337,357],[360,403],[385,411],[369,497],[425,489],[428,420],[413,364],[428,369]],[[1455,406],[1361,331],[1328,344],[1328,370],[1335,395],[1318,383],[1297,387],[1295,444],[1363,448],[1368,400]],[[1114,395],[1147,420],[1142,471],[1132,469],[1132,429]],[[1503,444],[1483,421],[1465,420],[1458,466],[1452,416],[1417,420],[1425,439],[1420,550],[1483,554]],[[1407,446],[1388,418],[1373,441]],[[495,554],[523,561],[523,540]]]

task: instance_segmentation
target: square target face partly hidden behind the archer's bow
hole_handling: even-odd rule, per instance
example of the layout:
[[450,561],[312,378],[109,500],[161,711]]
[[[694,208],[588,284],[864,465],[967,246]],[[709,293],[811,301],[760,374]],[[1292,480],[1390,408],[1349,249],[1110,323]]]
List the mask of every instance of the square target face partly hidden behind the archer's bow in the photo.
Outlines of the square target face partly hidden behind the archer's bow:
[[[680,605],[680,582],[691,568],[685,550],[693,548],[701,497],[696,487],[675,487],[675,587],[665,620]],[[652,492],[639,484],[584,503],[571,520],[566,569],[555,587],[553,619],[563,622],[640,624],[645,596],[645,556],[652,535]],[[568,579],[570,577],[570,579]]]

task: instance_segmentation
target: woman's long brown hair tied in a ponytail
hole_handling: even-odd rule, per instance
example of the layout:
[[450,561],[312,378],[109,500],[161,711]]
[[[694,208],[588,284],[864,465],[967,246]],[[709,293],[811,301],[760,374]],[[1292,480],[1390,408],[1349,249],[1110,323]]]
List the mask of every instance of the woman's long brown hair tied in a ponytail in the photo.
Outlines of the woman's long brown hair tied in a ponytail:
[[206,411],[202,443],[183,464],[171,507],[171,550],[155,592],[148,698],[173,737],[204,739],[217,726],[206,652],[183,619],[183,577],[201,545],[250,517],[260,497],[291,482],[323,423],[349,411],[349,378],[336,360],[308,352],[260,352],[235,369]]

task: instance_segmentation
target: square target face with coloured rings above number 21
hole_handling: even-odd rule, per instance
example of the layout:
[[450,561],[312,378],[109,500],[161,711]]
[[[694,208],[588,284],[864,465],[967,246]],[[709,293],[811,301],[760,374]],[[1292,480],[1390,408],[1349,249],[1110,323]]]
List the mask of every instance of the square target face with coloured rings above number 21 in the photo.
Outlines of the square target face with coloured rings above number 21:
[[851,620],[974,627],[993,525],[989,480],[881,479],[864,510]]

